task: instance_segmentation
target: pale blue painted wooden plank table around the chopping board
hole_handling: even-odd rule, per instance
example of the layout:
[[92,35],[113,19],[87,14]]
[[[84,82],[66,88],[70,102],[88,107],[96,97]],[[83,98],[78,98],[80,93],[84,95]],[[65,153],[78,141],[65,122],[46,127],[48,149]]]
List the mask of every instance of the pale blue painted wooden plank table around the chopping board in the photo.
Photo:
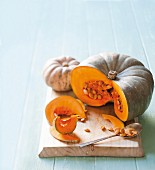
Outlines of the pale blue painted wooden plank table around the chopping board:
[[37,156],[44,63],[104,51],[131,55],[155,75],[155,1],[0,0],[0,170],[155,169],[154,95],[139,118],[145,157]]

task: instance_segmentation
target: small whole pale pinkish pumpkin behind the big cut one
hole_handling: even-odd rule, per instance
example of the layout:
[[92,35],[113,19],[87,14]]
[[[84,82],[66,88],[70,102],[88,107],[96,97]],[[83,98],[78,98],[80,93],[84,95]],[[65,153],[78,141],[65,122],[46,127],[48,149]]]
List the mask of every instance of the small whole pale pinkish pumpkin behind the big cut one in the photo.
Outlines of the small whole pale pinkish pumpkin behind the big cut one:
[[51,58],[43,68],[43,78],[46,84],[55,91],[71,90],[70,72],[79,62],[69,56]]

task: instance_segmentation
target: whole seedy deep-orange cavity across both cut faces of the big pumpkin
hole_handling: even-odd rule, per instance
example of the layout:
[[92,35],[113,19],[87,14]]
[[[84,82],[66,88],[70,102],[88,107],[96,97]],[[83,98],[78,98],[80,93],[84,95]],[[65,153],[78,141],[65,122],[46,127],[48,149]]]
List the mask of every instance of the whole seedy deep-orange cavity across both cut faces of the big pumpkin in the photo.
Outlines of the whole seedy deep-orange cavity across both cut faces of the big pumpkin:
[[105,100],[105,103],[114,102],[115,108],[119,112],[123,112],[120,95],[110,84],[106,84],[102,80],[91,80],[85,82],[83,86],[83,93],[90,99]]

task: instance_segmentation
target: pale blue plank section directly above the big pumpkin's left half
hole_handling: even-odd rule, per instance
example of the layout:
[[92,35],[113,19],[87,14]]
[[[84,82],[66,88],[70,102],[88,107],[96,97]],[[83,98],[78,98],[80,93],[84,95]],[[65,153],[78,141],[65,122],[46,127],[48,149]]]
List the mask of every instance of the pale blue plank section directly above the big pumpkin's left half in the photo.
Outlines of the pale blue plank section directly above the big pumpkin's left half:
[[86,1],[89,55],[116,51],[108,2]]

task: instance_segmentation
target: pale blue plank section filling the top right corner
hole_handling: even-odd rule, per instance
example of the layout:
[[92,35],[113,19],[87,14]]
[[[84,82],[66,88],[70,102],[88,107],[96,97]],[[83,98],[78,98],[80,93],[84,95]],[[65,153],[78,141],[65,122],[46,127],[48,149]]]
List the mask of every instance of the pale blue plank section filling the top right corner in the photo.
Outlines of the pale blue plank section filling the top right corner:
[[131,5],[150,70],[155,75],[155,1],[131,1]]

